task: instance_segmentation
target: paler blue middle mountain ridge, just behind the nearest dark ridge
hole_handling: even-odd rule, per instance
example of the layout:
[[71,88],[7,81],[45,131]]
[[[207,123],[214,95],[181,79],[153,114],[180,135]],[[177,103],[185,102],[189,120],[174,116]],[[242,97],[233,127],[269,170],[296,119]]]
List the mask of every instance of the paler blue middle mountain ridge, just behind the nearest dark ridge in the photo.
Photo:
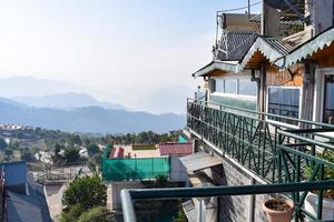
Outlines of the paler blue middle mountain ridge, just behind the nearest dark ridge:
[[67,92],[43,97],[13,97],[13,100],[35,108],[73,109],[82,107],[101,107],[112,110],[126,110],[121,104],[98,101],[86,93]]

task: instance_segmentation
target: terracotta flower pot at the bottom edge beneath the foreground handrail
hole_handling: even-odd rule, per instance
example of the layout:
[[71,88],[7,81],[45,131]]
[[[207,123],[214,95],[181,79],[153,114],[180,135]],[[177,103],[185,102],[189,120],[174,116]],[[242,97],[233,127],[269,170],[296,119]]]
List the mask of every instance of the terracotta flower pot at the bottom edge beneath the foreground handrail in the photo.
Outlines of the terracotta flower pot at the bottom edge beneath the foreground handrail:
[[289,222],[294,203],[291,200],[271,199],[263,203],[262,209],[266,212],[269,222]]

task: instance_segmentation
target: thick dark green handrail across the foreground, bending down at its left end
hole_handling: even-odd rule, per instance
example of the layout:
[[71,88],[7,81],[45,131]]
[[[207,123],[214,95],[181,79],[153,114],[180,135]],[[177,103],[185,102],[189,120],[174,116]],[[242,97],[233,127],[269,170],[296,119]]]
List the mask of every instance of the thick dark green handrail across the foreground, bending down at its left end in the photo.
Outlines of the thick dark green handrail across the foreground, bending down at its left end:
[[287,193],[333,188],[334,181],[298,182],[281,184],[255,184],[240,186],[206,186],[174,189],[124,189],[120,192],[125,222],[136,222],[132,200],[179,199],[222,195],[254,195],[269,193]]

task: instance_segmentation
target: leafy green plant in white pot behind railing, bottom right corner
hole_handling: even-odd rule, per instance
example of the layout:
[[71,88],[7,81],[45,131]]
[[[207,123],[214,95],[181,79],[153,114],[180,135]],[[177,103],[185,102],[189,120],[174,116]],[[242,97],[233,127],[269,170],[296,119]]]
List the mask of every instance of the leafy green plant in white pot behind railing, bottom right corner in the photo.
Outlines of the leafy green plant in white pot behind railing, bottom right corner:
[[[321,158],[328,161],[334,162],[334,151],[325,150]],[[311,179],[313,172],[312,167],[306,168],[306,176]],[[324,168],[324,179],[333,180],[334,179],[334,169],[325,167]],[[316,215],[317,211],[317,200],[318,195],[316,191],[311,191],[307,193],[305,199],[305,210],[313,215]],[[334,188],[330,190],[325,190],[323,192],[323,220],[333,220],[334,219]]]

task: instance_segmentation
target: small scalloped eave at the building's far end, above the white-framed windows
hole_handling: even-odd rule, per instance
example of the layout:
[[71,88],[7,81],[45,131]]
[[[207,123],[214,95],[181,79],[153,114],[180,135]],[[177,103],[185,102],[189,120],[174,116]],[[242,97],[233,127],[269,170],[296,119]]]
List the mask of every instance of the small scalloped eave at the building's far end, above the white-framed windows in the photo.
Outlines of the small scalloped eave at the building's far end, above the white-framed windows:
[[193,77],[207,77],[214,71],[222,71],[222,72],[237,72],[238,70],[238,62],[237,61],[212,61],[207,65],[200,68],[198,71],[193,73]]

